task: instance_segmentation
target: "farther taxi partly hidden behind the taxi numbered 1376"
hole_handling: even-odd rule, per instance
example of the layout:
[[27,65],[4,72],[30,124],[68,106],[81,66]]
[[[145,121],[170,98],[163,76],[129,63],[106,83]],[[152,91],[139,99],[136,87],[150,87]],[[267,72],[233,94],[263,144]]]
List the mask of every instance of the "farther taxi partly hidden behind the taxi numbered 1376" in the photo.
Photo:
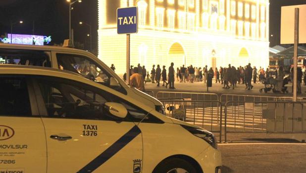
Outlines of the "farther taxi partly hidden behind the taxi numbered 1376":
[[78,49],[56,46],[0,44],[0,59],[4,64],[20,64],[69,70],[94,80],[113,90],[141,100],[165,114],[161,102],[128,86],[113,70],[95,55]]

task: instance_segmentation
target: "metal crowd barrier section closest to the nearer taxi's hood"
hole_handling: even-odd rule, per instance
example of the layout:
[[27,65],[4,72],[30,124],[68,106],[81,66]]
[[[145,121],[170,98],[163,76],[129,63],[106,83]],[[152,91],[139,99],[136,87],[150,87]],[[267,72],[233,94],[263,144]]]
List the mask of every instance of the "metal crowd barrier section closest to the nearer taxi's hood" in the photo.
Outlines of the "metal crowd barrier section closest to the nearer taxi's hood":
[[190,101],[182,98],[160,101],[165,106],[167,116],[219,132],[219,141],[222,141],[222,106],[219,101]]

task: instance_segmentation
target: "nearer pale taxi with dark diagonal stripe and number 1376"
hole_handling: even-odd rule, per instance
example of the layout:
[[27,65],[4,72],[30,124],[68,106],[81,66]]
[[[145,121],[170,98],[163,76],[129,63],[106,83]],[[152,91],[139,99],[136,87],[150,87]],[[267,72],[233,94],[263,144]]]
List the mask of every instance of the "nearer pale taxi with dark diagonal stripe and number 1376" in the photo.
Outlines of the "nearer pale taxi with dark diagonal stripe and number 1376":
[[0,65],[0,172],[220,173],[214,135],[53,68]]

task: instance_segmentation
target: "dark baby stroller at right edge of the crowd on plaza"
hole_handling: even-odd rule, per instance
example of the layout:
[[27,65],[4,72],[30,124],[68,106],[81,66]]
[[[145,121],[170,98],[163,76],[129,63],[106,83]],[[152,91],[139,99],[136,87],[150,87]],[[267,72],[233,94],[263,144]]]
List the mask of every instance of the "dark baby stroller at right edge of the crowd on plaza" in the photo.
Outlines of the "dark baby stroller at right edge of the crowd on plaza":
[[289,83],[289,76],[284,77],[284,79],[274,79],[273,77],[268,77],[262,83],[264,84],[264,88],[259,89],[260,93],[262,91],[267,93],[271,90],[273,93],[288,93],[287,86],[285,85]]

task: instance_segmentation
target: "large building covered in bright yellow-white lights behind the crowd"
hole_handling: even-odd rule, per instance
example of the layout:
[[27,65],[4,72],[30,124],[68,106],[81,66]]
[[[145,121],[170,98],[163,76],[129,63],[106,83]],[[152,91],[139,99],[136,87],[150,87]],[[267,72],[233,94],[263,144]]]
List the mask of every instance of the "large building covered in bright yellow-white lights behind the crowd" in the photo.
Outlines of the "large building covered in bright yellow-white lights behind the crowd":
[[[126,70],[126,35],[116,32],[116,8],[127,0],[99,0],[99,58]],[[130,0],[138,6],[131,65],[174,67],[269,62],[269,0]]]

